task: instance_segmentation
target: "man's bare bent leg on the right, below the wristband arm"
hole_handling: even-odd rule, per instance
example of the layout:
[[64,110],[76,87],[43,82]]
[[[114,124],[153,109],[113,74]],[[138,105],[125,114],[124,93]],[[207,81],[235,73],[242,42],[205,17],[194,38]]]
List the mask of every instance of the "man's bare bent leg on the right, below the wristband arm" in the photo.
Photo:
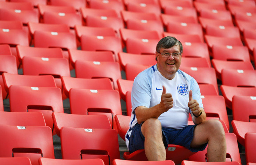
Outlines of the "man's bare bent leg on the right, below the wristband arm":
[[202,122],[194,129],[194,138],[191,147],[198,146],[208,142],[208,161],[225,162],[226,161],[226,139],[222,123],[218,120],[207,120]]

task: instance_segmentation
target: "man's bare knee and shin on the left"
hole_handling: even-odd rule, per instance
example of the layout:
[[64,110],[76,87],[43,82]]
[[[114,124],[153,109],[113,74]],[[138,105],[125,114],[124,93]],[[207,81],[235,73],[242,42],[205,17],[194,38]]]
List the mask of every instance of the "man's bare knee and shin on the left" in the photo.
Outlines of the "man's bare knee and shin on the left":
[[166,150],[162,140],[162,126],[158,119],[147,119],[142,127],[145,137],[145,154],[149,161],[165,161]]

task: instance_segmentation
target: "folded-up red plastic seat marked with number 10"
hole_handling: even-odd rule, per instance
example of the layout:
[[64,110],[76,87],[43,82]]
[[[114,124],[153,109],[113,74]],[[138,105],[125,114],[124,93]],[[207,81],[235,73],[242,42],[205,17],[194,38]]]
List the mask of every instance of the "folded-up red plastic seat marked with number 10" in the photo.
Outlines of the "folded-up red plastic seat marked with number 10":
[[40,157],[54,158],[50,127],[0,125],[0,130],[1,157],[29,157],[32,165]]

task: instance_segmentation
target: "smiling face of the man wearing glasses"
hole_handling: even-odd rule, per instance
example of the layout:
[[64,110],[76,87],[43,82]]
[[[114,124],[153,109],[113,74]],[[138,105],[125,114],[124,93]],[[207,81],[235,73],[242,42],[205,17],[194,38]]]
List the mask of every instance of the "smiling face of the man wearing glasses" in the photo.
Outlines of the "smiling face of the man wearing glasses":
[[160,49],[160,53],[155,52],[157,56],[157,66],[159,72],[167,79],[173,79],[175,73],[178,71],[179,66],[181,66],[181,57],[182,54],[178,56],[178,58],[174,58],[172,55],[169,57],[162,57],[161,53],[181,53],[179,50],[179,45],[174,45],[171,48]]

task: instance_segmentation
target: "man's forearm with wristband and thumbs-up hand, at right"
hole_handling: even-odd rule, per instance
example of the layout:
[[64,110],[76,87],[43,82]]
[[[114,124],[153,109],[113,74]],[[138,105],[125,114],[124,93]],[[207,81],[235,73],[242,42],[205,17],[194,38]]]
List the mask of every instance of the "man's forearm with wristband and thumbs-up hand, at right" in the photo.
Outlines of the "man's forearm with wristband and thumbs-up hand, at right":
[[203,108],[200,108],[197,100],[194,100],[192,98],[192,90],[189,91],[189,103],[187,104],[187,106],[189,106],[192,113],[194,114],[192,116],[194,124],[200,124],[201,122],[204,122],[206,120],[205,110]]

